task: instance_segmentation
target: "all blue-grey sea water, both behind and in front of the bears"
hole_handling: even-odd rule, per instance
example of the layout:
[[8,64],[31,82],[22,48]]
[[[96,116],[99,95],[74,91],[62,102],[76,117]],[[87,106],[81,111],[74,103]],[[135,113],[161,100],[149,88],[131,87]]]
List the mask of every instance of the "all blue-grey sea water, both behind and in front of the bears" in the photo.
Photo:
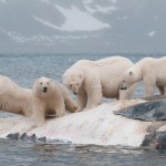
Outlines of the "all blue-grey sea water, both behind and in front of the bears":
[[[133,62],[137,62],[145,54],[121,54]],[[0,54],[0,74],[7,75],[23,87],[32,87],[39,76],[49,76],[62,82],[63,72],[81,59],[97,60],[108,55],[100,54]],[[149,55],[148,55],[149,56]],[[152,56],[162,56],[154,54]],[[138,85],[135,96],[143,93],[142,84]],[[0,113],[2,116],[12,114]],[[0,166],[51,166],[51,165],[90,165],[90,166],[165,166],[166,154],[155,149],[45,144],[25,141],[0,139]]]

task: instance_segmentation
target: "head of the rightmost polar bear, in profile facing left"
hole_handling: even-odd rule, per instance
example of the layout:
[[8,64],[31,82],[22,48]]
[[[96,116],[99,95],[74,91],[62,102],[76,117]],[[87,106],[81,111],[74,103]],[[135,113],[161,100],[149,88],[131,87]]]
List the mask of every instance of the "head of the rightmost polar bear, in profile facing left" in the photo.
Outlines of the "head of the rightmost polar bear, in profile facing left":
[[121,90],[127,90],[131,85],[142,80],[142,72],[138,68],[132,66],[124,72]]

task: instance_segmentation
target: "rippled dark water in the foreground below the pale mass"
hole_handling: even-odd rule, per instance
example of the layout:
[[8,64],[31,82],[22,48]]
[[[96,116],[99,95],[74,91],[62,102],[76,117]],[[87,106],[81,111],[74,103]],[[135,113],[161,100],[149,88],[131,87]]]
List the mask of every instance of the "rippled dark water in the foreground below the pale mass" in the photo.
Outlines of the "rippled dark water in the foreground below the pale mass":
[[0,141],[0,165],[165,166],[166,154],[120,146]]

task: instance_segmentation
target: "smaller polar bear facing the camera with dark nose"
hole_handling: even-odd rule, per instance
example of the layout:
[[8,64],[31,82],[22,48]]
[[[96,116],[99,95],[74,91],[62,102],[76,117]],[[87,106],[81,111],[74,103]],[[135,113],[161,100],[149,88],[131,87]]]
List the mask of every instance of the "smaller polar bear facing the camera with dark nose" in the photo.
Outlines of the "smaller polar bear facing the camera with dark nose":
[[65,114],[65,107],[74,112],[77,107],[71,100],[68,90],[50,77],[40,77],[32,89],[33,117],[38,126],[45,123],[45,114],[58,117]]

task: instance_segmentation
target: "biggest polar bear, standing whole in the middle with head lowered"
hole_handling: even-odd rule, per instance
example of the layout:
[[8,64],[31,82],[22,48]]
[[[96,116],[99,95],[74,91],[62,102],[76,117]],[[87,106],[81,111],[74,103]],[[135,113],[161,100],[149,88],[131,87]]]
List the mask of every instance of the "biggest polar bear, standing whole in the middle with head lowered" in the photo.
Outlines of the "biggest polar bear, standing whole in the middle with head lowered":
[[83,111],[86,105],[85,110],[97,106],[103,96],[129,98],[135,85],[122,97],[118,90],[123,72],[132,65],[133,62],[123,56],[80,60],[64,72],[63,84],[76,95],[77,111]]

